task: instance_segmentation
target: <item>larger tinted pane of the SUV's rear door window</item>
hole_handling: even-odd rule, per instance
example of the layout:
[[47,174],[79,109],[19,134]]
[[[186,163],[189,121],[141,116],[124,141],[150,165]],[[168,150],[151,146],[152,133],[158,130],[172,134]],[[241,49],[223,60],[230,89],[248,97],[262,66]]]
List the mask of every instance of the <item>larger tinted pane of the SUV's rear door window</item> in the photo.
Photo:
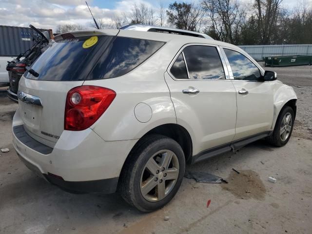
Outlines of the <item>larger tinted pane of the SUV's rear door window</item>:
[[190,79],[225,79],[221,59],[215,47],[191,45],[183,53]]

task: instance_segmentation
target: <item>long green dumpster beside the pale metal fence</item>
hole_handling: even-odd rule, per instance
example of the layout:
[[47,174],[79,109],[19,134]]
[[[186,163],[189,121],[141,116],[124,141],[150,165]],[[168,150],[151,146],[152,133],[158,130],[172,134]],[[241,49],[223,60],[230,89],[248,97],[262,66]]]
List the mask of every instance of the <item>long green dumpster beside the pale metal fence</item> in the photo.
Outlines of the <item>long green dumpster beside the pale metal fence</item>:
[[282,67],[312,64],[312,56],[296,55],[296,56],[273,56],[265,57],[265,66]]

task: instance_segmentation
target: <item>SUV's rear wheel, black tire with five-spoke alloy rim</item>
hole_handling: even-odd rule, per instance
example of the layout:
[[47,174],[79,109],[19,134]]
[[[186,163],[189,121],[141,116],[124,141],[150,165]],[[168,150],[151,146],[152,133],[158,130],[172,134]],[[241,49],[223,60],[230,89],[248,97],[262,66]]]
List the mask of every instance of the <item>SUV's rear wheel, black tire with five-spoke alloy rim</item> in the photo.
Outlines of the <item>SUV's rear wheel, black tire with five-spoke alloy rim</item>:
[[121,172],[121,195],[140,211],[155,211],[176,195],[184,171],[183,150],[175,140],[162,135],[144,137]]

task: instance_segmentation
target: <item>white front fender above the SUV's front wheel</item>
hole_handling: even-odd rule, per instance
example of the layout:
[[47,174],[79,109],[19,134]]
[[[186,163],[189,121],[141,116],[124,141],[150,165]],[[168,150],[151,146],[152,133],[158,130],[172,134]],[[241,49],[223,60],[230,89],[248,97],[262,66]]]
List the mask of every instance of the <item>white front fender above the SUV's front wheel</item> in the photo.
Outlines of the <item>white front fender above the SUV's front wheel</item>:
[[[273,84],[273,106],[274,106],[274,115],[273,115],[273,123],[271,126],[271,130],[274,130],[274,126],[277,120],[277,117],[285,106],[287,102],[290,100],[297,100],[297,95],[294,92],[292,86],[275,82]],[[294,113],[295,114],[295,113]]]

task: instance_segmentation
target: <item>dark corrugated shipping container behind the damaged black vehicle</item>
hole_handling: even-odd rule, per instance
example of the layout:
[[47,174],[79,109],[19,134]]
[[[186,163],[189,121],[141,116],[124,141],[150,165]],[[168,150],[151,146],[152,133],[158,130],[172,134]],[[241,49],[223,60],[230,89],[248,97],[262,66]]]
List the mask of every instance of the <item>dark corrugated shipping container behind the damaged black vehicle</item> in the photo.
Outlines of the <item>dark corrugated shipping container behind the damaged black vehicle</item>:
[[[48,39],[51,39],[51,29],[39,29],[48,31]],[[0,25],[0,56],[18,56],[28,50],[35,41],[38,33],[29,27],[15,27]]]

